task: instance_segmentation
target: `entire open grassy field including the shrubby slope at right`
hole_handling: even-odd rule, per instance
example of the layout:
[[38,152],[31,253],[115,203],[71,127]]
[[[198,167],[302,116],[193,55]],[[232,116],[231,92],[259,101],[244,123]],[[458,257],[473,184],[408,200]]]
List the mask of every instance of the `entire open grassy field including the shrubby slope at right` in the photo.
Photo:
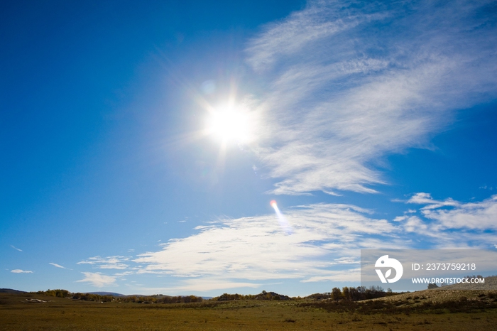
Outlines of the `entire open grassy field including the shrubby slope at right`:
[[148,305],[0,293],[0,330],[497,330],[496,291],[442,292]]

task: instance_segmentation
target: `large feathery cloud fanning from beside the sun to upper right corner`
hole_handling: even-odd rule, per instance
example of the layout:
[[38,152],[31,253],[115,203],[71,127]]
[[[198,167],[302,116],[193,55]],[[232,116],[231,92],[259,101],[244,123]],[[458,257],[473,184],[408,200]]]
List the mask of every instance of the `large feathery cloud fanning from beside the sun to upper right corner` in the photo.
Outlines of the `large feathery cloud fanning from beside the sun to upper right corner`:
[[246,53],[266,79],[254,150],[273,192],[376,192],[383,156],[495,97],[491,3],[310,1],[266,26]]

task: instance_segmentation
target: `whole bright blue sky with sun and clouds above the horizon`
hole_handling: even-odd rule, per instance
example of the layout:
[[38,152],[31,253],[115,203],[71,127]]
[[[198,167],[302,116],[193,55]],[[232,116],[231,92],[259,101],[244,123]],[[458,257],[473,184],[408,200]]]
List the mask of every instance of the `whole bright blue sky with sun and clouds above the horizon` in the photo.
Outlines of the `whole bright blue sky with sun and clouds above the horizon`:
[[360,249],[496,250],[496,13],[2,4],[0,287],[308,295]]

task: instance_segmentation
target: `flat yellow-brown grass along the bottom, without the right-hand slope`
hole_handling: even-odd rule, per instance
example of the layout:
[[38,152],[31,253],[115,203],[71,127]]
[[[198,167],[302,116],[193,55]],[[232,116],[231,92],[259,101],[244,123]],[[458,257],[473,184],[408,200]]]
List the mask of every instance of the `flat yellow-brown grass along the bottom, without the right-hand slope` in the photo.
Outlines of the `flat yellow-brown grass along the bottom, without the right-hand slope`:
[[[26,300],[31,298],[47,302]],[[302,305],[307,303],[313,304],[240,300],[141,305],[1,294],[0,330],[497,330],[496,309],[369,315]]]

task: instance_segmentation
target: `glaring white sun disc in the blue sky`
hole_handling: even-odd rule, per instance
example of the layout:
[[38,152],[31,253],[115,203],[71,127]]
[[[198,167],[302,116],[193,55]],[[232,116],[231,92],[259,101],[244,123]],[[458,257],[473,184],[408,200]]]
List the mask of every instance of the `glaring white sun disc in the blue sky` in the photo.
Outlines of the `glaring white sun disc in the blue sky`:
[[210,112],[207,133],[223,143],[248,143],[253,139],[253,119],[241,105],[226,104]]

